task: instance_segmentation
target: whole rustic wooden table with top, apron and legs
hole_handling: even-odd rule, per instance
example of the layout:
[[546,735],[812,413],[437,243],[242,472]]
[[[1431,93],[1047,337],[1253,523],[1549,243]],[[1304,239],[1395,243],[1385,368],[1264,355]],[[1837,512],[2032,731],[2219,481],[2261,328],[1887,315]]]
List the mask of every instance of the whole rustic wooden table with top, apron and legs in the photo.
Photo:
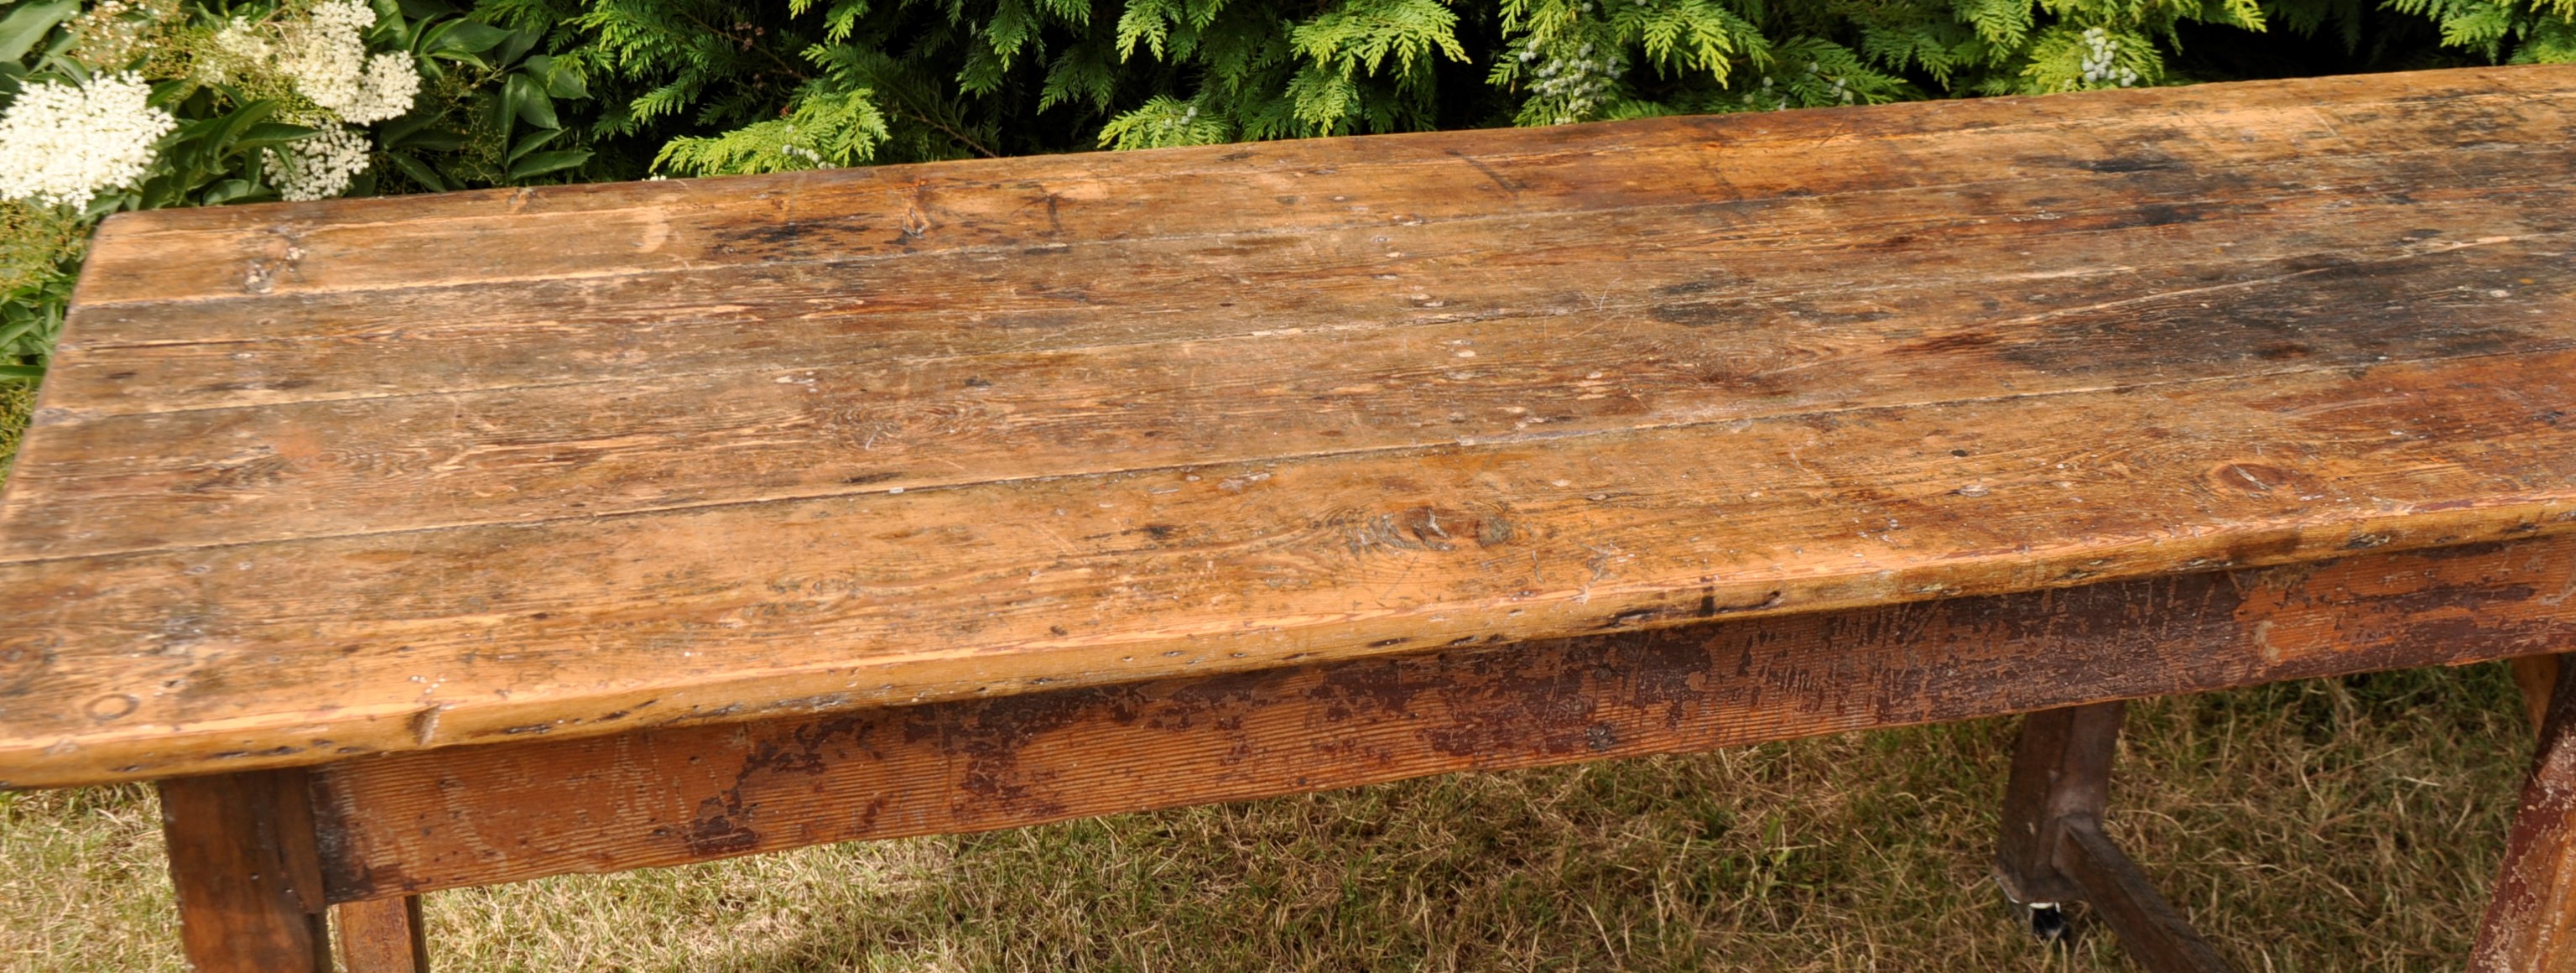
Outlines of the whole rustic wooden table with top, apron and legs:
[[[2571,121],[2509,67],[116,216],[0,497],[0,780],[162,780],[201,968],[335,904],[376,970],[438,888],[2058,708],[2002,878],[2205,968],[2099,703],[2576,633]],[[2483,968],[2576,965],[2563,728]]]

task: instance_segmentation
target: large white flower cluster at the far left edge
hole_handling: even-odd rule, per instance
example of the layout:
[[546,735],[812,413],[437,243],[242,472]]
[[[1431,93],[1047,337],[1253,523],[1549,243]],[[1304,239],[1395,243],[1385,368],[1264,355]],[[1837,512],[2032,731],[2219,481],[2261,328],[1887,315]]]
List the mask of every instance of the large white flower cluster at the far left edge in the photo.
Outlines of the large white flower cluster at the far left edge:
[[33,82],[0,113],[0,198],[80,206],[98,190],[134,185],[152,170],[152,144],[178,118],[152,108],[142,77],[98,75],[88,85]]

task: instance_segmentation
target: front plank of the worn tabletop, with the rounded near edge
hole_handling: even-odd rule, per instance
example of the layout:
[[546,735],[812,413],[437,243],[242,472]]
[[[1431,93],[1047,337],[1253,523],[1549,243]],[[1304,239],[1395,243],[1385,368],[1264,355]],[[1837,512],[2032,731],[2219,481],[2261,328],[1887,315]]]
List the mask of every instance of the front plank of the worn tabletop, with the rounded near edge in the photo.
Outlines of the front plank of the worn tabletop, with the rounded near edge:
[[2571,373],[2470,358],[0,564],[31,646],[0,764],[149,777],[2561,533],[2576,430],[2535,412],[2576,414]]

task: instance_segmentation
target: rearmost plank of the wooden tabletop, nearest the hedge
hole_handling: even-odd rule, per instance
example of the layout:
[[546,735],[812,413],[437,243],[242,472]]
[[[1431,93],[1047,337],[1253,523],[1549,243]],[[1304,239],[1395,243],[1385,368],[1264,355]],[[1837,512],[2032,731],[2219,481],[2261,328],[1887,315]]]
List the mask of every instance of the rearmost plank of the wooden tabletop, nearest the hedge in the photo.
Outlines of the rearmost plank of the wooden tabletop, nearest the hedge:
[[[2406,131],[2409,144],[2478,147],[2522,142],[2499,129],[2563,118],[2553,95],[2568,88],[2576,72],[2522,67],[155,211],[103,227],[80,301],[902,260],[1048,239],[2022,180],[2081,170],[2081,154],[2105,147],[2143,149],[2112,154],[2125,167],[2290,160],[2367,149],[2380,129]],[[2069,160],[2069,149],[2081,154]],[[399,260],[386,260],[392,247]]]

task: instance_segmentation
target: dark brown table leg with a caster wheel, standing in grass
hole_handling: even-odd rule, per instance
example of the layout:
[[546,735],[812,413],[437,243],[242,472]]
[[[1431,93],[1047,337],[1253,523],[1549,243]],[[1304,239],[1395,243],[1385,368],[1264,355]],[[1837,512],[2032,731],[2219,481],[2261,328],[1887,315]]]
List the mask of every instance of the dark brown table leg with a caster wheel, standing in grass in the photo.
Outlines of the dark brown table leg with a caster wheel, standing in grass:
[[2030,909],[2032,932],[2053,934],[2056,904],[2084,901],[2148,970],[2226,970],[2218,952],[2102,834],[2123,710],[2123,703],[2094,703],[2022,718],[1994,878],[2004,896]]

